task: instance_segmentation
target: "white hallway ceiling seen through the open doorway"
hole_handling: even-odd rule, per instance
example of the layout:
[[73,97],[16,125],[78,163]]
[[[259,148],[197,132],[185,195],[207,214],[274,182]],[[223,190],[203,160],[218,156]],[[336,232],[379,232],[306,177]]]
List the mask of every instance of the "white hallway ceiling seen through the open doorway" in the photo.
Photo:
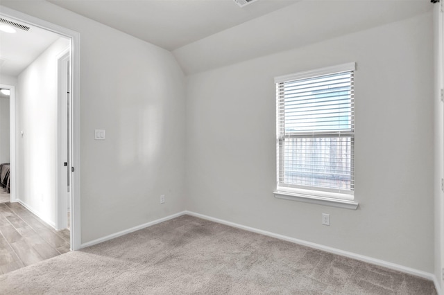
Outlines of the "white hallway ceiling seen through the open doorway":
[[60,37],[42,28],[29,27],[28,31],[17,28],[16,33],[0,31],[0,74],[16,77]]

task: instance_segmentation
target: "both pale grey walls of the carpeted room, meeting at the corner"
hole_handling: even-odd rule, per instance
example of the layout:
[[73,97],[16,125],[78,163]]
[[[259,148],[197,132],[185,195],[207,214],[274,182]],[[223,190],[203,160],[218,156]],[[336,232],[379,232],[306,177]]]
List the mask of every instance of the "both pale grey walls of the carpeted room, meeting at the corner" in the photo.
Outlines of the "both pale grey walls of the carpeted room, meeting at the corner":
[[[80,32],[82,243],[187,208],[434,271],[431,14],[191,75],[185,85],[161,48],[46,1],[1,4]],[[359,209],[275,199],[273,78],[351,61]],[[96,128],[105,141],[94,141]]]

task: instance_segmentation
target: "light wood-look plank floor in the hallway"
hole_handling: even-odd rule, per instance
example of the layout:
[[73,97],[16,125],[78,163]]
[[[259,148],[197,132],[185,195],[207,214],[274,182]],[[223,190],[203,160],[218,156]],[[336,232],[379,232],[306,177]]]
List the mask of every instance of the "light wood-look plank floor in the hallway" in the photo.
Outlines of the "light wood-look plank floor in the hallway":
[[56,231],[19,203],[0,203],[0,274],[69,251],[69,230]]

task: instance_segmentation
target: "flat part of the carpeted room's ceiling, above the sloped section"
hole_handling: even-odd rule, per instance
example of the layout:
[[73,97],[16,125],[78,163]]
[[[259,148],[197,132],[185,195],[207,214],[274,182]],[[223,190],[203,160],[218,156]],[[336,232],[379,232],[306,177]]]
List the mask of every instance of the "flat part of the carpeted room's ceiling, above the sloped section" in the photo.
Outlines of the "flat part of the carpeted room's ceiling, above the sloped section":
[[48,0],[169,51],[300,0]]

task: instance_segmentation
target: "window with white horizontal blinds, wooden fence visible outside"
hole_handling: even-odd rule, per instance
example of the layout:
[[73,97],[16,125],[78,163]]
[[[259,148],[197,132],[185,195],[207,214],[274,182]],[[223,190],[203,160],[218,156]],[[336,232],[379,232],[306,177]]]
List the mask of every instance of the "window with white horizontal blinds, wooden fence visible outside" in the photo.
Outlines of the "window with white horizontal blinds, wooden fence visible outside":
[[275,195],[357,206],[354,72],[350,63],[275,78]]

